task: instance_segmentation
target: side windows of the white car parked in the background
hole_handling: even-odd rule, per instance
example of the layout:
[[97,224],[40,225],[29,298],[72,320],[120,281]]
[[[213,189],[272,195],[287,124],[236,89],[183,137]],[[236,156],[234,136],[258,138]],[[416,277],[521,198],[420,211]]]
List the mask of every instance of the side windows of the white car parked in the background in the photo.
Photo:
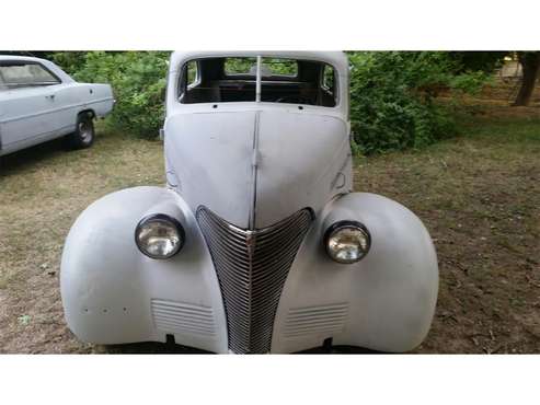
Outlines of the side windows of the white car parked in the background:
[[19,61],[0,65],[0,81],[10,89],[51,85],[61,82],[39,63]]

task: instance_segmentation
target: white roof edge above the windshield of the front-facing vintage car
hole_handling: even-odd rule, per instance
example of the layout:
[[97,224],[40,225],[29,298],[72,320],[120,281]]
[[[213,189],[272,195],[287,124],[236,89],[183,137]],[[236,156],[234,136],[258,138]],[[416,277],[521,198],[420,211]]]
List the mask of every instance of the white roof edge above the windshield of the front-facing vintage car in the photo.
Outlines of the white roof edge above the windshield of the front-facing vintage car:
[[319,51],[319,50],[177,50],[171,55],[173,70],[179,69],[185,61],[198,58],[219,57],[273,57],[320,60],[332,65],[340,74],[348,72],[348,59],[343,51]]

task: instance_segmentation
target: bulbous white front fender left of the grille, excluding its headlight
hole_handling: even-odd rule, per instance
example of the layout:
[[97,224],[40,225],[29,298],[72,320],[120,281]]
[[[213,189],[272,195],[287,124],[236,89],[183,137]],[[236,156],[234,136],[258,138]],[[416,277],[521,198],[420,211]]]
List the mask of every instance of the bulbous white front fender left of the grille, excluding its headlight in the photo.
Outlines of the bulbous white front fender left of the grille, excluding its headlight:
[[[149,213],[168,213],[186,242],[170,259],[136,246],[135,229]],[[135,187],[89,206],[62,253],[60,289],[69,328],[83,342],[165,342],[227,352],[227,323],[211,257],[195,218],[175,193]]]

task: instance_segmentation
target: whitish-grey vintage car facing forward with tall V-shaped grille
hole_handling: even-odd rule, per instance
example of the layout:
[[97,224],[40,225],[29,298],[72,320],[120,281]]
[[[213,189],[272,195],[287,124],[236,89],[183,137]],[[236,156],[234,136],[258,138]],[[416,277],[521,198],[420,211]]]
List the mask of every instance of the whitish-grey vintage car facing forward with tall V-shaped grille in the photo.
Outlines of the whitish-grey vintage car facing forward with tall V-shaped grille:
[[353,193],[343,53],[174,53],[166,187],[92,204],[61,262],[82,340],[214,352],[406,351],[438,288],[428,232]]

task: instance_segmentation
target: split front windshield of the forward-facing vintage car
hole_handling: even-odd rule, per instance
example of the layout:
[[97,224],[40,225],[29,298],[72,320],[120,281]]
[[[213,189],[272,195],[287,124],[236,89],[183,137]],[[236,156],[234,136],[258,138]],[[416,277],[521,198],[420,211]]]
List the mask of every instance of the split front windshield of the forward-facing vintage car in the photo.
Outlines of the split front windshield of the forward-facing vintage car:
[[182,67],[183,104],[271,102],[334,107],[335,69],[325,62],[271,57],[193,59]]

